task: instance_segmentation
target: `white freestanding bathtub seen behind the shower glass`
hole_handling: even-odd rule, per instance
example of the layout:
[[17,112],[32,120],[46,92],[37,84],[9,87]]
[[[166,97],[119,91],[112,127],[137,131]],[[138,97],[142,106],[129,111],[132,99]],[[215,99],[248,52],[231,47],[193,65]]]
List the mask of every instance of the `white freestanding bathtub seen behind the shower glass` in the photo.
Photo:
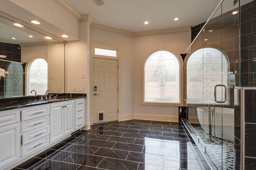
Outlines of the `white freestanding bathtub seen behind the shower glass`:
[[[197,116],[201,127],[209,134],[209,119],[208,119],[208,107],[197,107]],[[211,107],[210,109],[213,109]],[[222,118],[223,112],[223,118]],[[223,133],[222,132],[222,119],[223,119]],[[234,142],[234,109],[215,107],[215,117],[212,117],[212,136],[226,141]],[[215,126],[214,126],[215,125]],[[223,135],[223,136],[222,136]]]

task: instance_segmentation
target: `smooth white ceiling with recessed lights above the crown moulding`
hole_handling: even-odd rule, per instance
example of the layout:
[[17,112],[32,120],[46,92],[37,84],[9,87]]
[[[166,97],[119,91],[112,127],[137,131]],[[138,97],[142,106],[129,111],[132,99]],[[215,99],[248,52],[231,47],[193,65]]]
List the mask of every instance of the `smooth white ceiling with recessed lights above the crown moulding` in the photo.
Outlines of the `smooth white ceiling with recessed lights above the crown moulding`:
[[[94,23],[124,29],[149,31],[195,26],[206,21],[220,0],[66,0],[80,14],[90,14]],[[233,3],[233,2],[232,2]],[[174,18],[178,17],[178,21]],[[144,25],[148,21],[148,25]]]

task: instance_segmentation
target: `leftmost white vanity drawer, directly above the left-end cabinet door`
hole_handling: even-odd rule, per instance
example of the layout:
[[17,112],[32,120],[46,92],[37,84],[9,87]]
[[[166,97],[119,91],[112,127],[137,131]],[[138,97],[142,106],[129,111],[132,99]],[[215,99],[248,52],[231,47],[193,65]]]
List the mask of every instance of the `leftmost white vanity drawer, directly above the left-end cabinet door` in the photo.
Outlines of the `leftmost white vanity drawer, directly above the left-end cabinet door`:
[[20,111],[6,112],[0,114],[0,126],[20,122]]

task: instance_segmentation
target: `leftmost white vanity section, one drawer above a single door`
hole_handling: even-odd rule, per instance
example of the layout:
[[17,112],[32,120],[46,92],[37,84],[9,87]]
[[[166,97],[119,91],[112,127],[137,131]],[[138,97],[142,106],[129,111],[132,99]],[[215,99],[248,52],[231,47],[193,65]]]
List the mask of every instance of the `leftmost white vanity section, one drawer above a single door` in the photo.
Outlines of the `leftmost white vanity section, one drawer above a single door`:
[[20,158],[20,110],[1,111],[0,169]]

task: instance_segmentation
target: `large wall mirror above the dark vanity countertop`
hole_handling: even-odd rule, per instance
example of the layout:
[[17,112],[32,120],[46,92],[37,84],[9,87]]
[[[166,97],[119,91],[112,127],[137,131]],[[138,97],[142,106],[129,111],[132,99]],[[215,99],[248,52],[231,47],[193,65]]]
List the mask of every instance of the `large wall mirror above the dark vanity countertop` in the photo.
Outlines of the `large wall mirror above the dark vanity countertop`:
[[64,40],[3,12],[0,30],[0,98],[65,92]]

